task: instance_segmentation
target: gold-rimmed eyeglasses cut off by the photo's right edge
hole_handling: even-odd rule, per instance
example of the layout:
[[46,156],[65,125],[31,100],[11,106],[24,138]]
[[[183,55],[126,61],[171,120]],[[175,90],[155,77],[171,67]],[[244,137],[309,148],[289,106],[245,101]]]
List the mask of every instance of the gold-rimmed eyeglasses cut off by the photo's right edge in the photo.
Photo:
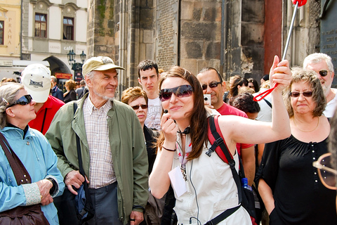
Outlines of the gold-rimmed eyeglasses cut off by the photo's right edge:
[[331,168],[331,153],[321,155],[312,165],[317,168],[319,179],[322,184],[331,190],[337,190],[337,170]]

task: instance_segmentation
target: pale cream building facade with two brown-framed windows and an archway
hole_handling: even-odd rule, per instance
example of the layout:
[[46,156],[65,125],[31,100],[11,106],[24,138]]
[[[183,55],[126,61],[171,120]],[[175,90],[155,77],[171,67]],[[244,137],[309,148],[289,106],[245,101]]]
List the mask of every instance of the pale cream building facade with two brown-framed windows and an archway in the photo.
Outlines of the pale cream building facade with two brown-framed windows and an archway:
[[[0,1],[0,11],[8,10],[6,6],[2,7],[2,2]],[[8,31],[7,35],[5,30],[4,41],[8,43],[11,34],[12,43],[15,43],[16,49],[10,48],[7,44],[7,55],[13,53],[11,58],[14,61],[11,64],[8,63],[8,69],[0,67],[0,76],[1,72],[7,69],[14,70],[15,74],[12,73],[12,76],[18,77],[26,65],[44,62],[51,69],[52,75],[60,79],[74,79],[67,53],[74,51],[77,55],[75,60],[80,63],[79,54],[82,51],[87,52],[88,2],[85,0],[8,0],[7,2],[11,5],[16,3],[15,7],[12,6],[15,8],[16,17],[12,20],[15,24],[11,26],[15,32],[12,31],[13,34],[11,34]],[[11,60],[8,56],[5,58]]]

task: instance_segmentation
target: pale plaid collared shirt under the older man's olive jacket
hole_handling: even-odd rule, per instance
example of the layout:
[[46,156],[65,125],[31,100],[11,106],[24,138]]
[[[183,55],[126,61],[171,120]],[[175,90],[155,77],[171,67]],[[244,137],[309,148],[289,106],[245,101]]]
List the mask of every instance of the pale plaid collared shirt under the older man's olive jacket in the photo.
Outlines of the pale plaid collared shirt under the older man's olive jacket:
[[89,188],[100,188],[116,181],[107,127],[107,112],[112,108],[112,102],[107,101],[98,109],[88,97],[83,108],[90,155]]

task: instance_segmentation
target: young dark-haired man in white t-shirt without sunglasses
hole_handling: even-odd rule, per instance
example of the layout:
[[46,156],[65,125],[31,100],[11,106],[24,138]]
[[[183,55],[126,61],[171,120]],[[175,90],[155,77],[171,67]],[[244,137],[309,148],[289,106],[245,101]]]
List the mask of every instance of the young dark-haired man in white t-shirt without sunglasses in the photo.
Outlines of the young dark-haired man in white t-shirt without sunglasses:
[[159,100],[159,72],[158,65],[153,60],[143,60],[138,67],[138,82],[149,98],[146,127],[160,130],[161,102]]

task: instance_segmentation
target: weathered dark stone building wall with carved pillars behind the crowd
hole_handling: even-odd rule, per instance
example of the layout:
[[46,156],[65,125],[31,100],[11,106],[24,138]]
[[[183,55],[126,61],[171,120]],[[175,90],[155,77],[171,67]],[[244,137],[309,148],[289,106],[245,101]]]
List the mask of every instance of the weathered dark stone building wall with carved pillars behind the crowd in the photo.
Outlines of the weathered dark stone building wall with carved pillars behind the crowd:
[[[320,51],[323,2],[298,8],[286,52],[291,66]],[[282,58],[293,9],[285,0],[91,0],[88,54],[110,56],[126,68],[119,95],[138,85],[136,67],[144,59],[164,70],[180,65],[197,74],[211,66],[224,79],[241,75],[260,81],[273,56]]]

